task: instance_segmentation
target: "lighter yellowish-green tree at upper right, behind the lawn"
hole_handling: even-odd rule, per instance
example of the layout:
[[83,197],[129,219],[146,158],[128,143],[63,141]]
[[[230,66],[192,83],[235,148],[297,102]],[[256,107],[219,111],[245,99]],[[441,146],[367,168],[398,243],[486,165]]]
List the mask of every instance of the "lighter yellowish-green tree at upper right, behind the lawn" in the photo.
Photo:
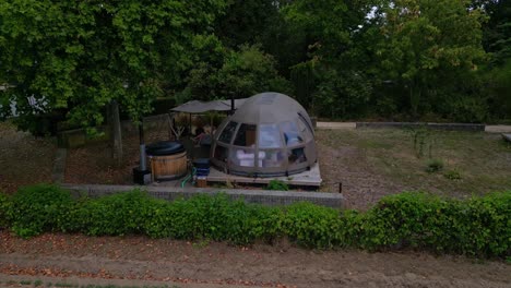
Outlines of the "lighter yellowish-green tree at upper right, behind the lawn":
[[378,44],[382,77],[401,83],[417,116],[424,95],[438,75],[476,70],[485,59],[478,9],[470,1],[395,0],[376,10],[382,40]]

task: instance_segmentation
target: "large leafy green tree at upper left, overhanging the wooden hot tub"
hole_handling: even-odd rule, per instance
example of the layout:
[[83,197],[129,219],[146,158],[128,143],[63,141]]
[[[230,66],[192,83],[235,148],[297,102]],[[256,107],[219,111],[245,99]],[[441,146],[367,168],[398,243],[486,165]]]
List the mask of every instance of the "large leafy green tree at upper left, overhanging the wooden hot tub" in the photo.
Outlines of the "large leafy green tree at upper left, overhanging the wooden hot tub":
[[139,121],[162,86],[191,64],[193,38],[224,7],[224,0],[2,1],[0,80],[11,88],[1,103],[15,103],[20,124],[63,109],[93,128],[112,100]]

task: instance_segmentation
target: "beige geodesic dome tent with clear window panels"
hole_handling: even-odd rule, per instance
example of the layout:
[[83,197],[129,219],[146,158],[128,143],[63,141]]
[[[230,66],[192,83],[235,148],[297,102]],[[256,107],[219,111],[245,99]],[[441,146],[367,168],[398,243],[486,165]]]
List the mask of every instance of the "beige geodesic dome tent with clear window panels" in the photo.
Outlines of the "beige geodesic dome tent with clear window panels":
[[211,160],[239,176],[305,171],[317,161],[312,122],[304,107],[284,94],[254,95],[218,127]]

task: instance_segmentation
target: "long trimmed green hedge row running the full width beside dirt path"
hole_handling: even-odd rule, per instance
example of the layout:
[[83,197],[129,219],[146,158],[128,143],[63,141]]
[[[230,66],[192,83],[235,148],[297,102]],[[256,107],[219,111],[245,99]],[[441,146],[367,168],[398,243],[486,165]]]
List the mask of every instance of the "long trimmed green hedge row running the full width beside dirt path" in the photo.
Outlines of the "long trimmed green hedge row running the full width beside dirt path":
[[466,201],[426,193],[382,199],[366,213],[298,203],[266,207],[201,195],[166,202],[141,191],[74,200],[55,185],[0,194],[0,226],[21,237],[45,231],[90,236],[146,235],[236,244],[280,237],[308,248],[416,248],[476,256],[511,255],[511,192]]

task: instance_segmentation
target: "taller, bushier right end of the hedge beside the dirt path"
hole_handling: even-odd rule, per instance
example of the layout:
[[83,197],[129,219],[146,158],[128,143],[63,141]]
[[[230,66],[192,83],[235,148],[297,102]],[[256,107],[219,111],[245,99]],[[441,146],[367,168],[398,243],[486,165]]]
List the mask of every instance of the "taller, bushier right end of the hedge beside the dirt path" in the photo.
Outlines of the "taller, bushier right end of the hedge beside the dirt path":
[[426,193],[382,199],[366,214],[363,248],[413,247],[441,253],[509,254],[511,192],[468,201]]

